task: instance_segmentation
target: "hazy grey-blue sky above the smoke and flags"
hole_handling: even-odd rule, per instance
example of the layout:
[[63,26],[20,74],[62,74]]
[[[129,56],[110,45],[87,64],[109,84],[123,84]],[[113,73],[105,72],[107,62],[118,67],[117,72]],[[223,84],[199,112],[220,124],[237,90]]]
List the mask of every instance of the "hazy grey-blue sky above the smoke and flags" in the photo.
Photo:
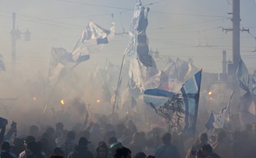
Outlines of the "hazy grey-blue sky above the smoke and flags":
[[[198,68],[211,73],[222,71],[222,51],[232,60],[232,12],[231,0],[141,0],[150,7],[147,35],[149,47],[163,56],[193,58]],[[117,25],[117,33],[129,30],[135,0],[0,0],[0,53],[7,69],[11,69],[11,14],[16,13],[17,27],[21,32],[31,32],[31,41],[18,40],[16,45],[17,67],[36,76],[49,69],[51,49],[63,47],[71,51],[82,31],[91,20],[103,28],[110,22]],[[111,14],[113,13],[113,17]],[[256,69],[256,2],[241,0],[241,28],[249,28],[250,34],[241,32],[241,56],[249,71]],[[82,67],[98,63],[106,58],[121,64],[127,44],[126,36],[115,36],[102,52],[92,54]],[[210,45],[212,47],[198,47]],[[32,69],[33,68],[33,69]]]

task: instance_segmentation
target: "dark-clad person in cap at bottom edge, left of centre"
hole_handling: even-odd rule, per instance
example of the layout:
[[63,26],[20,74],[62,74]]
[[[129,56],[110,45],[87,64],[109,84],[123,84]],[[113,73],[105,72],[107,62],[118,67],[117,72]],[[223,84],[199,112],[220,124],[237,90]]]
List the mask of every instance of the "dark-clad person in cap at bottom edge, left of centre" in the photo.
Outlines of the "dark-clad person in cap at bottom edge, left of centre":
[[68,158],[94,158],[94,155],[88,151],[88,144],[91,143],[85,137],[81,137],[78,141],[78,145],[74,148],[74,150],[69,153]]

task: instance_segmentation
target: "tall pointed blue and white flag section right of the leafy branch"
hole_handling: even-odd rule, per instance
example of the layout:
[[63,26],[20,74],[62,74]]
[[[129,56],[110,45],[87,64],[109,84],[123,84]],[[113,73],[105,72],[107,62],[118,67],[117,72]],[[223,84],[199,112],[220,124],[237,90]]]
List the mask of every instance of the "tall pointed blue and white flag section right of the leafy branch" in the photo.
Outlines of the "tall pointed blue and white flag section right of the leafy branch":
[[181,94],[183,95],[185,105],[185,127],[183,130],[187,131],[191,136],[195,135],[195,126],[197,124],[201,73],[202,71],[199,71],[193,75],[181,87]]

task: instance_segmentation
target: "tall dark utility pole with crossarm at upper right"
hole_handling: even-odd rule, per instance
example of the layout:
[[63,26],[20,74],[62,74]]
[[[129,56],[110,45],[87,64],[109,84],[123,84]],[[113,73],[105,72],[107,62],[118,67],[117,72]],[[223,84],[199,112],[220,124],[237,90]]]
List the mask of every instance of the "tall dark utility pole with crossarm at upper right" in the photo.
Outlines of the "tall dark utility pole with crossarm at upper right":
[[241,17],[240,17],[240,0],[233,0],[232,3],[232,28],[222,28],[222,32],[226,31],[232,31],[232,75],[236,75],[236,69],[238,67],[238,63],[240,61],[240,32],[248,32],[249,29],[243,30],[240,29],[240,22],[241,22]]

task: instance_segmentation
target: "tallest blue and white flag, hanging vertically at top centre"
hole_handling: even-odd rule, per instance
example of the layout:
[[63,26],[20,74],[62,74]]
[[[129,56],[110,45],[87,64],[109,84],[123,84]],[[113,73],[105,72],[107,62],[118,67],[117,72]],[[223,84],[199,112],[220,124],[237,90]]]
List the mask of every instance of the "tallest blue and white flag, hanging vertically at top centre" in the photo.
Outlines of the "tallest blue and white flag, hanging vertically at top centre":
[[149,55],[146,28],[148,26],[148,7],[143,7],[141,1],[137,0],[133,19],[129,30],[129,43],[125,54],[138,58],[146,67],[152,67],[152,56]]

